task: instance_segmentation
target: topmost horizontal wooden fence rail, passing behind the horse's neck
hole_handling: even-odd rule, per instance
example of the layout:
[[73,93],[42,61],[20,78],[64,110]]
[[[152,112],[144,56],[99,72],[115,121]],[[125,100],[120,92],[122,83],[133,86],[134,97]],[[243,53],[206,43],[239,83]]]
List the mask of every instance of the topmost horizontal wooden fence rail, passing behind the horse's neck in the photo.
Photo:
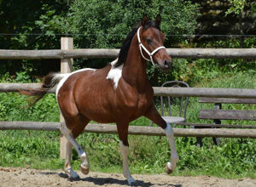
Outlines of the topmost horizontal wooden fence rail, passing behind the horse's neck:
[[[256,48],[166,48],[178,59],[256,59]],[[116,59],[119,49],[0,50],[0,59]]]

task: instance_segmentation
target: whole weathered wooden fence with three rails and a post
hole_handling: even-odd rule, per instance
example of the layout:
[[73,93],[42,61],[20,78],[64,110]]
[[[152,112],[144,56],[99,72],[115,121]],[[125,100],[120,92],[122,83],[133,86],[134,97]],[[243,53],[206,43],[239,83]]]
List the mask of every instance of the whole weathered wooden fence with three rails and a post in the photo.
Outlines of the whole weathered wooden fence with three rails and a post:
[[[256,48],[167,48],[172,58],[186,59],[256,59]],[[61,59],[61,73],[73,71],[73,58],[117,58],[119,49],[73,49],[73,38],[62,37],[60,50],[0,50],[0,59]],[[24,87],[25,85],[25,87]],[[36,88],[38,84],[0,83],[0,93],[17,92],[18,89]],[[55,93],[55,89],[49,91]],[[233,88],[154,88],[154,96],[185,96],[256,99],[255,89]],[[61,117],[61,122],[63,118]],[[59,131],[61,122],[0,122],[0,130],[49,130]],[[85,132],[117,133],[113,125],[93,125]],[[130,134],[165,135],[160,127],[129,127]],[[180,129],[181,137],[256,138],[254,129]],[[66,139],[61,138],[61,158],[64,158]]]

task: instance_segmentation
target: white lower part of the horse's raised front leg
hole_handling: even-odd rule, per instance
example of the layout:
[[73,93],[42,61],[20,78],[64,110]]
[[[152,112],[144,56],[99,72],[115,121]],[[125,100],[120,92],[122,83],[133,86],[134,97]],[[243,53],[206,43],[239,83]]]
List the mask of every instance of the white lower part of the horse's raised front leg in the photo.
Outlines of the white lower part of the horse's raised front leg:
[[170,148],[171,148],[171,162],[169,161],[167,163],[167,166],[169,167],[169,169],[174,171],[175,168],[176,168],[176,163],[178,161],[177,150],[175,148],[174,133],[173,133],[172,126],[168,123],[166,123],[166,125],[167,125],[166,128],[165,128],[166,137],[169,141]]

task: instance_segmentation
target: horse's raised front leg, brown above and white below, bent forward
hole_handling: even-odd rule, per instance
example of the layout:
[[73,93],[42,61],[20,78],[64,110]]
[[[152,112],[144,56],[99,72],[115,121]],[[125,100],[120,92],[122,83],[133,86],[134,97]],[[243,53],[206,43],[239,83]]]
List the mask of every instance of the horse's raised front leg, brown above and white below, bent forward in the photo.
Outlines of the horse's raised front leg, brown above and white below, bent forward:
[[146,116],[149,120],[163,128],[166,132],[166,137],[169,141],[171,148],[171,161],[168,161],[166,164],[166,173],[171,174],[175,170],[176,163],[178,161],[172,126],[163,120],[163,118],[160,116],[159,112],[155,109],[153,104],[150,105],[150,107],[148,107],[148,111],[144,116]]

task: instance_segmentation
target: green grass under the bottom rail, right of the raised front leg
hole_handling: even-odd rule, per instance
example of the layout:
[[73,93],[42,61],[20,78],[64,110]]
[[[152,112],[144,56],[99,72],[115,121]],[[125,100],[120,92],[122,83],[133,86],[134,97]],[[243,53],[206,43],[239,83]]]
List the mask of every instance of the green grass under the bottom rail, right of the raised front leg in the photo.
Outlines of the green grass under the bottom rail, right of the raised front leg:
[[[179,170],[201,168],[205,173],[216,172],[217,176],[230,173],[230,176],[242,175],[255,168],[255,148],[253,139],[221,139],[221,145],[212,145],[212,139],[204,139],[204,146],[198,148],[195,139],[177,139],[179,152]],[[207,164],[206,164],[207,163]]]

